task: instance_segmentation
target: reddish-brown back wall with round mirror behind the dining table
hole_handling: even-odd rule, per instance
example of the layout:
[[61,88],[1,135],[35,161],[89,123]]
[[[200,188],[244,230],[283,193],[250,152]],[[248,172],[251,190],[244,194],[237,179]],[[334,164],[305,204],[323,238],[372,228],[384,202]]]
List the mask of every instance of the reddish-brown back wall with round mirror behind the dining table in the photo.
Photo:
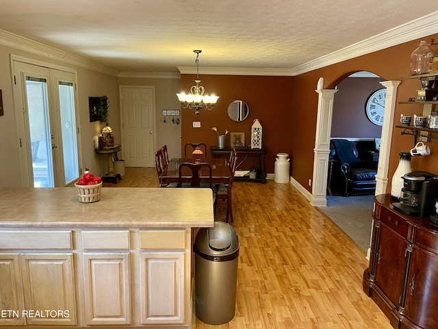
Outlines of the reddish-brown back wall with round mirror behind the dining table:
[[[181,90],[188,93],[195,78],[196,75],[181,75]],[[217,127],[222,134],[226,129],[244,132],[245,145],[250,145],[251,125],[254,119],[259,119],[263,127],[262,145],[269,149],[266,170],[273,173],[276,154],[291,151],[294,127],[289,127],[289,123],[294,112],[294,77],[200,75],[200,79],[205,93],[219,95],[218,103],[213,110],[201,110],[197,116],[194,110],[181,109],[181,154],[188,142],[204,142],[208,147],[218,145],[216,132],[211,127]],[[232,121],[227,114],[229,103],[235,99],[242,99],[249,106],[249,116],[242,122]],[[201,128],[193,128],[194,121],[201,121]],[[228,135],[227,145],[230,142]]]

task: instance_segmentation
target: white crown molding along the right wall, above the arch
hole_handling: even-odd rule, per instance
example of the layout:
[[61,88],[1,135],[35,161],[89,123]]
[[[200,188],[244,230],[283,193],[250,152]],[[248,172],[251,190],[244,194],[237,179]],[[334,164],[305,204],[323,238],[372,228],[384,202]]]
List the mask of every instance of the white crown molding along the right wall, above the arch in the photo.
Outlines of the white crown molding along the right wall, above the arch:
[[294,67],[292,75],[307,73],[315,69],[321,69],[324,66],[329,66],[344,60],[350,60],[359,56],[382,50],[401,43],[430,36],[438,31],[438,12],[433,12],[426,16],[415,19],[409,23],[405,23],[393,29],[389,29],[381,34],[372,36],[371,38],[362,40],[353,45],[329,53],[326,56],[316,58],[305,64]]

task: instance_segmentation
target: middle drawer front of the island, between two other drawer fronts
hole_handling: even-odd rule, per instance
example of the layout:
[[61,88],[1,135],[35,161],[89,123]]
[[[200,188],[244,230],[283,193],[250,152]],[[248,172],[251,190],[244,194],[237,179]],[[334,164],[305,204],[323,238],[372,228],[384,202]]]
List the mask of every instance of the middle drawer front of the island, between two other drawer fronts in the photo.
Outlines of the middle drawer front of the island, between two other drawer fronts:
[[130,249],[129,230],[82,231],[83,249]]

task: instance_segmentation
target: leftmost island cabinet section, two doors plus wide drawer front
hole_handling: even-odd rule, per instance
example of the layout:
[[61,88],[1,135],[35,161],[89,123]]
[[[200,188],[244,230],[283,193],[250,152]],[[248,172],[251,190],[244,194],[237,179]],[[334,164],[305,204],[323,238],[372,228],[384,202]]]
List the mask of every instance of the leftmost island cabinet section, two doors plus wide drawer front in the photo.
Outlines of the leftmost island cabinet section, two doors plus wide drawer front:
[[0,326],[77,324],[70,249],[70,230],[0,230]]

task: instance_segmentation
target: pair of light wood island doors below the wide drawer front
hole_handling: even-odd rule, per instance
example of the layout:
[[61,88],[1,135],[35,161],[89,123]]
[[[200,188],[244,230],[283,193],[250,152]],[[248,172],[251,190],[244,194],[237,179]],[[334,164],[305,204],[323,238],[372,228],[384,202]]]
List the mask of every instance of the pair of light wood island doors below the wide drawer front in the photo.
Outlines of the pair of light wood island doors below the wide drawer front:
[[0,254],[0,287],[0,326],[77,324],[72,253]]

